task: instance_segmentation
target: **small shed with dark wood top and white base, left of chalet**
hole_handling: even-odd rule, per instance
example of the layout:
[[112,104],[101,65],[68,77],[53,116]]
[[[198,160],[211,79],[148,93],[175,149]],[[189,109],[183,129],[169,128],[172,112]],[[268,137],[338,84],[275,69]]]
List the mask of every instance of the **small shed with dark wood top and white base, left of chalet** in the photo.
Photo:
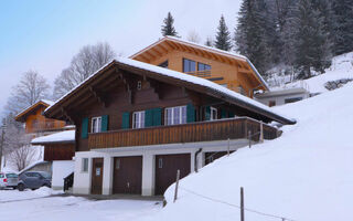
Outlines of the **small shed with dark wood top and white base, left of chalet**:
[[44,161],[50,165],[52,188],[63,189],[64,178],[74,171],[75,130],[38,137],[31,144],[44,146]]

